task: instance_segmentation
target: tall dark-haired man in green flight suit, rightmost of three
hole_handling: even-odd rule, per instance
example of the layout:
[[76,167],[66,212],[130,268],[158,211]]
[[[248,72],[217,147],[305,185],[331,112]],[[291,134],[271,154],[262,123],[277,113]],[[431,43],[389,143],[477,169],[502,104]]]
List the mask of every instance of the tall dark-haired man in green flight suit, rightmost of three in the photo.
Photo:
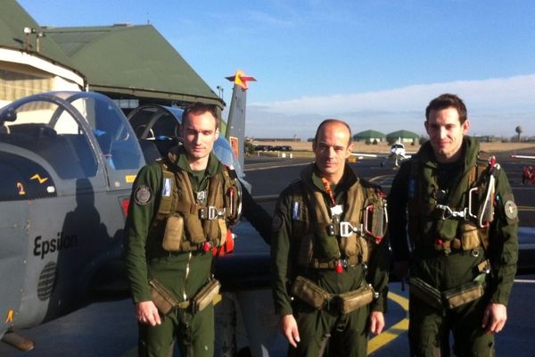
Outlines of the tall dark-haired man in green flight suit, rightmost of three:
[[451,331],[457,356],[491,356],[516,271],[513,193],[495,157],[466,136],[457,95],[433,99],[425,118],[429,141],[389,195],[394,270],[403,278],[410,268],[411,355],[449,356]]

